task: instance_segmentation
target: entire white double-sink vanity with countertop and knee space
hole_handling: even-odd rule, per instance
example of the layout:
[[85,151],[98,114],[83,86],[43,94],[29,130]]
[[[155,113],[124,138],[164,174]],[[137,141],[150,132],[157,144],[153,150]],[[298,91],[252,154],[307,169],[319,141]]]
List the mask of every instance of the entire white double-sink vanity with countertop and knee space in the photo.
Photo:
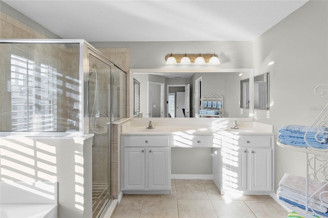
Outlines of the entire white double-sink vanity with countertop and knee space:
[[213,181],[220,192],[273,191],[272,126],[241,123],[238,129],[204,126],[128,126],[121,133],[124,193],[170,193],[171,148],[212,148]]

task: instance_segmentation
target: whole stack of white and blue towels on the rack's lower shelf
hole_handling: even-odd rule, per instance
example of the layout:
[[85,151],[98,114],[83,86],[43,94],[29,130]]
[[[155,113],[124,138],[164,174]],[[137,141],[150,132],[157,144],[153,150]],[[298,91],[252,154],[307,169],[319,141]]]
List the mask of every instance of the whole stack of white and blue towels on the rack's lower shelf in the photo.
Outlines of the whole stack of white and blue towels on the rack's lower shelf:
[[[309,180],[309,197],[325,184],[324,182],[313,182]],[[328,191],[328,185],[324,186],[319,193],[310,199],[309,208],[325,214],[328,212],[328,192],[322,191]],[[322,193],[321,200],[319,197],[320,193]],[[305,178],[285,173],[279,182],[277,195],[280,200],[298,207],[300,205],[300,208],[304,209],[306,199],[308,198],[305,195]]]

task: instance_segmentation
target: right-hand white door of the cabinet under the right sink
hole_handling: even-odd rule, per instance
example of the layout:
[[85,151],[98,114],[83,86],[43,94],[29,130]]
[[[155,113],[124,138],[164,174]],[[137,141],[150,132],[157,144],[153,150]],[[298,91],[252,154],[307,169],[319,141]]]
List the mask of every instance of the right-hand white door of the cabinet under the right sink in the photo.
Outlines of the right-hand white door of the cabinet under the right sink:
[[272,150],[271,148],[251,148],[249,162],[249,182],[251,191],[272,190]]

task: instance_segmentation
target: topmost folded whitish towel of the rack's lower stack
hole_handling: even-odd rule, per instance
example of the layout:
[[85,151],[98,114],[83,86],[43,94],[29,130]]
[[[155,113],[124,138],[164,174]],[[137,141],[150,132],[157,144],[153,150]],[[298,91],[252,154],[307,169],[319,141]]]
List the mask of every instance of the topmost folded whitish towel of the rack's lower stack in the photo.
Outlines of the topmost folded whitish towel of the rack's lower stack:
[[[319,188],[321,188],[324,184],[326,184],[326,182],[315,182],[309,179],[309,196],[313,194],[315,191],[317,191]],[[297,193],[301,193],[305,195],[304,177],[299,177],[299,176],[292,175],[290,173],[285,173],[279,182],[279,186],[289,188]],[[322,191],[328,191],[328,185],[325,186],[320,192]],[[320,192],[315,195],[317,199],[319,199]],[[323,197],[326,198],[327,199],[326,202],[328,202],[328,193],[324,193]],[[321,199],[323,198],[321,197]]]

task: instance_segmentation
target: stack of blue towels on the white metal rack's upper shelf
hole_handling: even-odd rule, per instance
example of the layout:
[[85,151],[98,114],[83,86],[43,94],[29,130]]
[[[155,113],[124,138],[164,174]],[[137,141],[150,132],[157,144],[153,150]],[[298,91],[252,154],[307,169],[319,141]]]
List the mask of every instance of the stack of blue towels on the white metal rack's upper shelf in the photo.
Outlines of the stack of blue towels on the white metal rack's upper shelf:
[[[326,126],[320,127],[320,132],[317,131],[317,127],[302,126],[302,125],[286,125],[279,129],[278,139],[282,144],[290,144],[299,147],[308,147],[305,143],[304,135],[309,129],[308,134],[306,134],[306,141],[309,145],[314,148],[328,148],[328,128]],[[318,140],[316,140],[316,138]]]

